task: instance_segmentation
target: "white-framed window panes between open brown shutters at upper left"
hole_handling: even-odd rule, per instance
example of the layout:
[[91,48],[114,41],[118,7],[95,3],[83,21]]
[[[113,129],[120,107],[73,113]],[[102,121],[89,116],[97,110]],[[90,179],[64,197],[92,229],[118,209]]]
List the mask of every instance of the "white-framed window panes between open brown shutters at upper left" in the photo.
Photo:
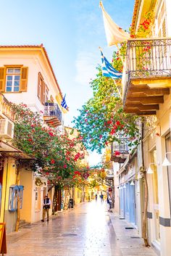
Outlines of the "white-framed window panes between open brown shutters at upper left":
[[7,68],[6,91],[20,91],[20,68]]

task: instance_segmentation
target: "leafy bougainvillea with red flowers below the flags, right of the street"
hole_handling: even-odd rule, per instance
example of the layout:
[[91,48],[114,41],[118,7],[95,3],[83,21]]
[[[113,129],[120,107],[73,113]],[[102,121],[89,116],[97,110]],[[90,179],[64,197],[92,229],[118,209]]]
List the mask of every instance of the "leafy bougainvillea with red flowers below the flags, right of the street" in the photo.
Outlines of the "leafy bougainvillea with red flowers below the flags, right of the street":
[[[110,78],[102,76],[101,67],[97,68],[96,79],[91,81],[93,98],[83,105],[80,115],[73,121],[83,137],[87,149],[101,149],[120,136],[129,138],[130,146],[138,144],[136,116],[125,114],[117,88]],[[116,81],[120,87],[120,81]]]

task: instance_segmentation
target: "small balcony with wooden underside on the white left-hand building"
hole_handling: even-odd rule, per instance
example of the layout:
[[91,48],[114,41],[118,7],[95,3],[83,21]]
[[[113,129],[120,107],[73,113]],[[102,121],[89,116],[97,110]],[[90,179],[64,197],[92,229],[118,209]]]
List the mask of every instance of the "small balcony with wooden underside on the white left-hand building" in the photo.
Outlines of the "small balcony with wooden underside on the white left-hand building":
[[59,109],[58,104],[46,102],[43,118],[49,126],[57,127],[62,125],[62,111]]

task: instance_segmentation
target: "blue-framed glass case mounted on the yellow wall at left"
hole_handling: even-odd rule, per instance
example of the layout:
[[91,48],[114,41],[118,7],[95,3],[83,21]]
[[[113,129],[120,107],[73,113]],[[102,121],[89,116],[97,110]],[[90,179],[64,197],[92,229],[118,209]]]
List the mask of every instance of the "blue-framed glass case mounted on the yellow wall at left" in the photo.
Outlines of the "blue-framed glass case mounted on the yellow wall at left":
[[17,210],[17,197],[20,197],[20,209],[22,209],[23,186],[12,185],[9,187],[9,211]]

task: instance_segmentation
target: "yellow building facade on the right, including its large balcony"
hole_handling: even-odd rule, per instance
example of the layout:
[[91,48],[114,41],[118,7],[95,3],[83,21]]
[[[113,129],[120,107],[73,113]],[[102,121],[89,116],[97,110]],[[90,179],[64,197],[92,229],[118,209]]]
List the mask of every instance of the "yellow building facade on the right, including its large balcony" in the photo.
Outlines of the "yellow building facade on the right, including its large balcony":
[[[137,33],[146,12],[151,12],[153,19],[146,38],[128,40],[127,72],[122,78],[125,112],[146,116],[143,155],[149,187],[147,233],[149,244],[162,256],[171,255],[171,164],[164,162],[165,157],[171,160],[170,8],[169,0],[135,1],[132,32]],[[139,150],[138,159],[141,153]]]

